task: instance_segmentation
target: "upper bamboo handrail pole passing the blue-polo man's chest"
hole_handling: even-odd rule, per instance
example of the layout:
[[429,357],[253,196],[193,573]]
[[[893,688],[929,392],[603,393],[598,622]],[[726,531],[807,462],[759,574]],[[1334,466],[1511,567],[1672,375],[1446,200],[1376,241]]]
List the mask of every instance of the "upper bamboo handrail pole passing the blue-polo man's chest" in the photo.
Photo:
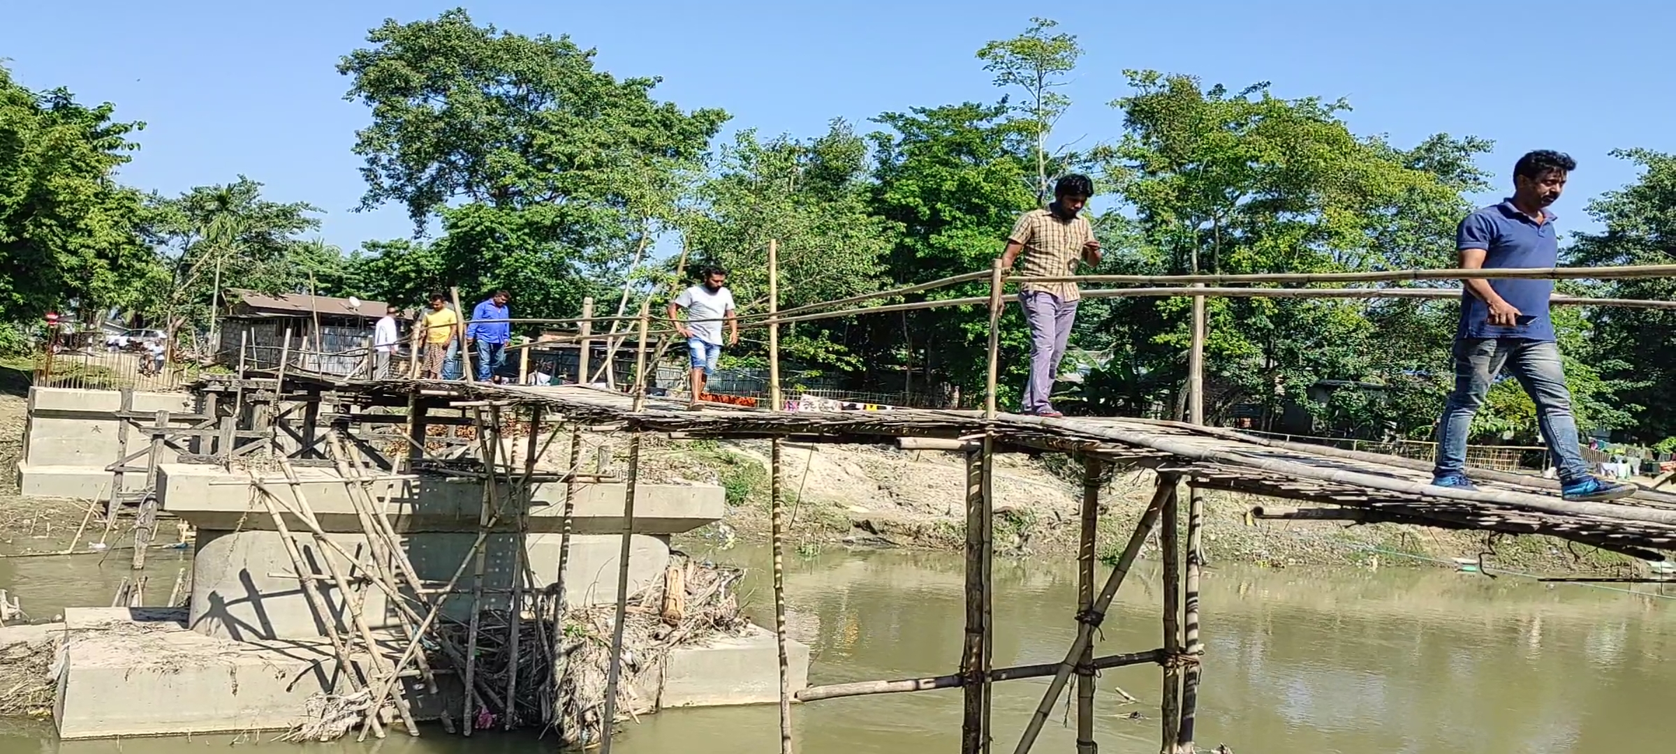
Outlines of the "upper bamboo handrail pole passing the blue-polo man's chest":
[[1624,266],[1500,266],[1490,270],[1378,270],[1342,273],[1245,273],[1245,275],[1053,275],[1016,276],[1014,283],[1131,283],[1131,285],[1227,285],[1227,283],[1379,283],[1399,280],[1631,280],[1676,276],[1676,265]]

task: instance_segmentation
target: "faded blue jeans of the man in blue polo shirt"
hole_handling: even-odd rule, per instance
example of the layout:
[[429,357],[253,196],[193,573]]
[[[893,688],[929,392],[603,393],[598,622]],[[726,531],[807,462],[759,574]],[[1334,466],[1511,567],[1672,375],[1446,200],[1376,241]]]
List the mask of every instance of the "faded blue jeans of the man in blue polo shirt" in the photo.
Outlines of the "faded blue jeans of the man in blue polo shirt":
[[1461,474],[1466,467],[1466,434],[1472,417],[1483,405],[1490,384],[1502,374],[1513,372],[1525,394],[1537,404],[1537,426],[1549,442],[1554,467],[1560,483],[1589,476],[1589,464],[1577,444],[1577,421],[1570,412],[1570,390],[1565,387],[1565,370],[1560,365],[1560,349],[1552,340],[1525,338],[1456,338],[1455,340],[1455,392],[1438,421],[1438,466],[1433,476]]

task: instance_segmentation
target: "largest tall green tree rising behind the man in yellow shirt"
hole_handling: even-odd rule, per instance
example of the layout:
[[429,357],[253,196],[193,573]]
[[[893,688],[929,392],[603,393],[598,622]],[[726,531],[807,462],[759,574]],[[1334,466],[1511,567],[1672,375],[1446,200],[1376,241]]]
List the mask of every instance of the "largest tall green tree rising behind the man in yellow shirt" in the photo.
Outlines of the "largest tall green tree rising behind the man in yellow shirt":
[[446,235],[404,255],[434,266],[401,280],[506,287],[521,315],[575,315],[585,292],[613,292],[727,119],[652,99],[659,79],[597,70],[570,37],[479,27],[461,8],[385,20],[367,42],[339,64],[347,97],[372,109],[355,142],[362,208],[399,203],[419,235],[434,218]]

